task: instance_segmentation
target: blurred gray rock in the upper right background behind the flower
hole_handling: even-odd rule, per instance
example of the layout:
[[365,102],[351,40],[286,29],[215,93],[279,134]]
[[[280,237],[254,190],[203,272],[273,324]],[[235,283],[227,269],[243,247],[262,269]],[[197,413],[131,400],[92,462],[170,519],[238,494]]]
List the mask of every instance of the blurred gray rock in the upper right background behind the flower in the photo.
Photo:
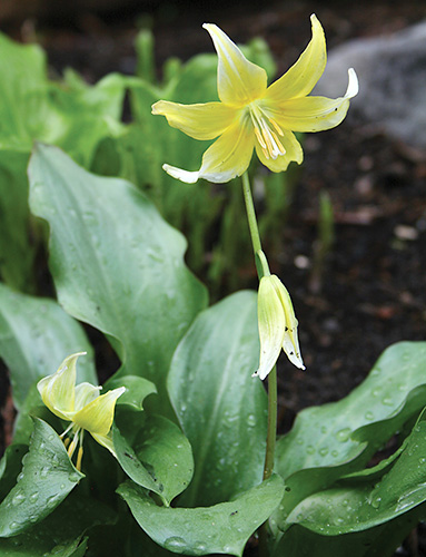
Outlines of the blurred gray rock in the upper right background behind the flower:
[[426,21],[331,50],[314,95],[341,96],[350,67],[357,72],[359,94],[350,101],[349,118],[426,148]]

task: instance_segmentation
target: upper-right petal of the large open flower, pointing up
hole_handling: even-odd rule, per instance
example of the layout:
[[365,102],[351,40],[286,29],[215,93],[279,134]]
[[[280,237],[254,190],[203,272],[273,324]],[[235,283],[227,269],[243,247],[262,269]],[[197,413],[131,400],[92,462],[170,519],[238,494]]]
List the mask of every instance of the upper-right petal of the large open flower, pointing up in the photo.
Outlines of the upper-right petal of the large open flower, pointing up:
[[297,62],[266,91],[271,101],[305,97],[314,89],[327,62],[326,39],[317,17],[310,16],[313,38]]

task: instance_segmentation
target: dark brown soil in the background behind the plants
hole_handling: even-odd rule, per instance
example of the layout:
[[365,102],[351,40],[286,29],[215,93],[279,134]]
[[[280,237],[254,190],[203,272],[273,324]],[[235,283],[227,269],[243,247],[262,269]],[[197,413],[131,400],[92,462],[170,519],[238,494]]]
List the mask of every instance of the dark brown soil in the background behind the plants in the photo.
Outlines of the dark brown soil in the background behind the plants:
[[[201,29],[215,21],[234,40],[262,36],[279,65],[295,61],[310,37],[316,12],[328,47],[355,37],[389,33],[426,17],[426,4],[403,2],[202,2],[194,7],[151,3],[141,13],[73,12],[61,20],[9,20],[14,38],[42,31],[52,67],[75,67],[89,81],[110,71],[132,72],[135,22],[152,22],[159,66],[171,55],[187,59],[211,51]],[[244,8],[241,8],[244,6]],[[206,99],[207,100],[207,99]],[[338,128],[306,137],[305,163],[295,203],[283,229],[283,251],[269,260],[291,293],[307,371],[279,362],[280,420],[287,431],[308,405],[339,400],[366,377],[389,344],[425,340],[426,322],[426,153],[371,135],[368,125],[347,119]],[[335,213],[335,243],[319,282],[313,283],[321,192]],[[254,284],[256,287],[256,284]],[[2,387],[2,385],[1,385]],[[8,428],[9,407],[3,411]],[[8,432],[8,430],[7,430]],[[423,553],[398,555],[426,555]]]

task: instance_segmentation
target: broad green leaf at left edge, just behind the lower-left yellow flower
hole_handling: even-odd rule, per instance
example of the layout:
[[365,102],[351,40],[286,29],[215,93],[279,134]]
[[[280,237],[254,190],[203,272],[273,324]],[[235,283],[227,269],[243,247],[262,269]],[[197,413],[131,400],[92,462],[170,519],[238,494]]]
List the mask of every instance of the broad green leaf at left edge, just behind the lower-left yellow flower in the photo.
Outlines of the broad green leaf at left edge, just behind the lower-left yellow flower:
[[0,284],[0,356],[9,368],[18,410],[36,381],[55,373],[67,355],[81,351],[88,355],[80,359],[77,382],[96,383],[93,351],[80,324],[53,300]]

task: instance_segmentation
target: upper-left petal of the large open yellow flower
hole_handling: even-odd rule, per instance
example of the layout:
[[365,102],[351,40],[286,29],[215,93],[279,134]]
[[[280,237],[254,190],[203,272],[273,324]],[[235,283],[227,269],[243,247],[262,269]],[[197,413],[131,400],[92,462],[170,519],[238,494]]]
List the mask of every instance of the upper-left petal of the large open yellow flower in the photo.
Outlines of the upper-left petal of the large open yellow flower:
[[247,60],[240,49],[217,26],[202,26],[214,41],[218,53],[218,95],[226,105],[241,107],[261,97],[266,91],[264,68]]

